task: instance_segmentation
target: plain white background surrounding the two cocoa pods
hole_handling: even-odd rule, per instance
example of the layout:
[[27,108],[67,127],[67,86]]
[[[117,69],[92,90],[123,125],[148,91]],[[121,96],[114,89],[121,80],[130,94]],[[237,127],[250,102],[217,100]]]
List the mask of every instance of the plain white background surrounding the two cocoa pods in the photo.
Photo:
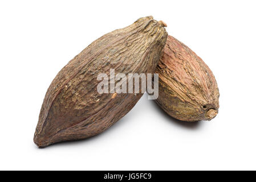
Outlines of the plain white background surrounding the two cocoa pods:
[[[1,1],[0,169],[256,169],[255,9],[255,1]],[[144,95],[96,137],[36,147],[40,107],[60,69],[148,15],[212,69],[217,117],[178,122]]]

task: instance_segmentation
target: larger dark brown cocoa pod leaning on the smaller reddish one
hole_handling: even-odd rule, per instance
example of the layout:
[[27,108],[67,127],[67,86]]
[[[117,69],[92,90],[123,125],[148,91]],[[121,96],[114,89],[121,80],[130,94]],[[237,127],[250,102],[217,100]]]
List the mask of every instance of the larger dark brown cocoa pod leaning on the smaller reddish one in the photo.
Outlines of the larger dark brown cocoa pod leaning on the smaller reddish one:
[[54,78],[39,115],[39,147],[97,135],[127,114],[143,93],[98,93],[99,73],[154,73],[167,32],[152,16],[109,32],[74,57]]

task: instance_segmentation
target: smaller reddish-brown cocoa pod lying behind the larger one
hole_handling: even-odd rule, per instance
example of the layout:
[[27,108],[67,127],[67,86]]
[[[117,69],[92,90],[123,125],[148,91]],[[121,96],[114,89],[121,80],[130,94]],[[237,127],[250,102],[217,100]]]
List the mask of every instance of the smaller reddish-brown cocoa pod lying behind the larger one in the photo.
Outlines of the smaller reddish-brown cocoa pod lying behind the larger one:
[[163,52],[156,68],[159,74],[157,104],[181,121],[216,117],[220,94],[209,67],[190,48],[170,35]]

